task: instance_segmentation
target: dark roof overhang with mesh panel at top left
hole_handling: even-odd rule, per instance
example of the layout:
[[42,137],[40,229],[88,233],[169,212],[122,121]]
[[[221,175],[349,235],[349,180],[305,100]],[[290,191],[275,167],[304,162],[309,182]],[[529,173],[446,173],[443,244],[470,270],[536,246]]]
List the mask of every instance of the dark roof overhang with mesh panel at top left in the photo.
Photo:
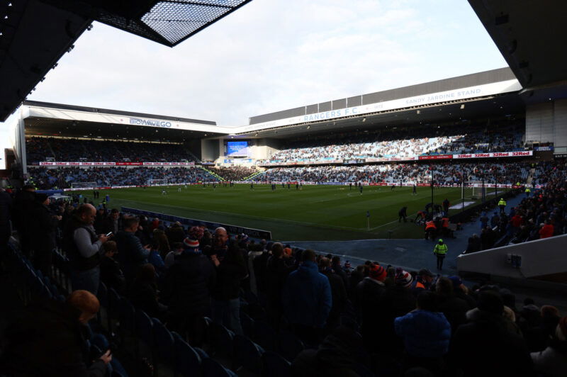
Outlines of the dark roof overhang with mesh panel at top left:
[[250,1],[1,1],[0,121],[26,100],[93,21],[173,47]]

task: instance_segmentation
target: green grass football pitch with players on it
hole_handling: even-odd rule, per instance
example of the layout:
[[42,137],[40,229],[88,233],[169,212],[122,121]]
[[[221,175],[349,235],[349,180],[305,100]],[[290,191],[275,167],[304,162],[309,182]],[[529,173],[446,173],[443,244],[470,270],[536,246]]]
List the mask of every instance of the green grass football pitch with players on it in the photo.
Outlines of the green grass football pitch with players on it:
[[[303,186],[296,190],[269,185],[241,184],[235,187],[201,185],[118,188],[101,192],[110,195],[109,208],[125,206],[168,215],[271,231],[274,240],[322,241],[369,240],[378,238],[420,238],[423,227],[410,222],[417,210],[431,201],[431,188],[364,186]],[[88,196],[90,191],[83,191]],[[445,198],[461,206],[461,188],[435,188],[434,203]],[[468,201],[471,203],[471,201]],[[408,223],[398,223],[398,210],[408,207]],[[367,211],[370,217],[367,217]]]

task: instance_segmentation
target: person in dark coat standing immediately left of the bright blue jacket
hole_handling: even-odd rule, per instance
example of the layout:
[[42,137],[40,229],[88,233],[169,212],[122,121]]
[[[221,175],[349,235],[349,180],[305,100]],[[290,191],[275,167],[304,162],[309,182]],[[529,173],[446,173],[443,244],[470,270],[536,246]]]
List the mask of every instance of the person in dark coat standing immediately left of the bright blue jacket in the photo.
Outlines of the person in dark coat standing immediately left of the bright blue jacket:
[[[276,329],[279,328],[279,322],[283,314],[283,306],[281,303],[283,286],[286,283],[286,278],[293,269],[293,267],[286,266],[284,258],[287,258],[287,256],[283,252],[283,244],[279,242],[274,243],[271,247],[271,257],[269,257],[266,263],[265,293],[267,300],[266,310],[269,320],[271,325]],[[254,264],[254,261],[252,264]]]

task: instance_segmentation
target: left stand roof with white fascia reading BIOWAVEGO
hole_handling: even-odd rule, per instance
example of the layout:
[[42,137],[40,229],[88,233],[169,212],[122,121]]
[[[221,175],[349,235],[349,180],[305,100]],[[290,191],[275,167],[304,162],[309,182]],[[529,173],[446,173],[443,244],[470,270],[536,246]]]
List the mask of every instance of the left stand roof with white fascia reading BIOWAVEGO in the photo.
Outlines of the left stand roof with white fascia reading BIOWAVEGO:
[[215,122],[131,111],[25,101],[26,135],[182,142],[226,135]]

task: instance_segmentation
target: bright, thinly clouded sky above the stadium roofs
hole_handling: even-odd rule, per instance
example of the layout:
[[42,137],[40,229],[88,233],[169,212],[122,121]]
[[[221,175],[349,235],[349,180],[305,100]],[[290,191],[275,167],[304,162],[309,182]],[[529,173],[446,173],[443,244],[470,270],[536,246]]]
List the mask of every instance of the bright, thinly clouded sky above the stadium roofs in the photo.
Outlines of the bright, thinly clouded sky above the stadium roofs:
[[173,48],[94,23],[28,99],[237,126],[506,66],[466,0],[253,0]]

